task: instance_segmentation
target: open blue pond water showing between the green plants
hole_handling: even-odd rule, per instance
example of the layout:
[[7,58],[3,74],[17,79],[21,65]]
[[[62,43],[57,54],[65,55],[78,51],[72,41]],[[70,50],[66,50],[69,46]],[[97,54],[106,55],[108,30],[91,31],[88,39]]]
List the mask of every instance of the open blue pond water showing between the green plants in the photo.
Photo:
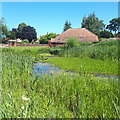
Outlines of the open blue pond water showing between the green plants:
[[[61,70],[59,67],[55,67],[50,63],[45,63],[45,62],[36,62],[34,63],[33,66],[33,75],[41,77],[42,75],[54,75],[54,74],[59,74],[59,73],[72,73],[75,74],[75,72],[67,72],[64,70]],[[94,75],[95,77],[100,77],[100,78],[112,78],[112,79],[118,79],[117,76],[112,76],[112,75]]]

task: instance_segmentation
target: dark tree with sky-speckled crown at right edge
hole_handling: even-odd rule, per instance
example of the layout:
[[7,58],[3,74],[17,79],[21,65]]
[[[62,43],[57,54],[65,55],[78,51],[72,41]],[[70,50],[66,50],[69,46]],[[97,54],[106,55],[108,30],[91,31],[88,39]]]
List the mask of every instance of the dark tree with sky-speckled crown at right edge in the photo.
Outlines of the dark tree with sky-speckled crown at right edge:
[[120,32],[120,17],[119,18],[113,18],[109,21],[109,25],[107,25],[106,29],[110,30],[110,32],[115,32],[117,34]]

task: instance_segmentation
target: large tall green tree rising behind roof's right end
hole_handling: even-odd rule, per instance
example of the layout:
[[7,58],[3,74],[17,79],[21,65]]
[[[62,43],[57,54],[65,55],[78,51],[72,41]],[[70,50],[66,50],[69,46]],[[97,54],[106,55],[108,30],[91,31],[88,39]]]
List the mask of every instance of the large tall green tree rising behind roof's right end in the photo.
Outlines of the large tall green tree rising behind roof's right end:
[[81,25],[82,28],[87,28],[98,36],[100,35],[100,31],[105,27],[103,20],[99,20],[95,13],[90,14],[88,17],[83,17]]

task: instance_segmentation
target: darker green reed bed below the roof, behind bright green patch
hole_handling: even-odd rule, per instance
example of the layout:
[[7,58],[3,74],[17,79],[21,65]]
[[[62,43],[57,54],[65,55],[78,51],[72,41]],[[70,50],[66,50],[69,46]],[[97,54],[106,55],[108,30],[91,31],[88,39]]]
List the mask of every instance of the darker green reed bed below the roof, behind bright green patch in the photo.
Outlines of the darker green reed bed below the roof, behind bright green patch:
[[118,61],[118,40],[64,48],[58,54],[61,57],[90,57],[100,60]]

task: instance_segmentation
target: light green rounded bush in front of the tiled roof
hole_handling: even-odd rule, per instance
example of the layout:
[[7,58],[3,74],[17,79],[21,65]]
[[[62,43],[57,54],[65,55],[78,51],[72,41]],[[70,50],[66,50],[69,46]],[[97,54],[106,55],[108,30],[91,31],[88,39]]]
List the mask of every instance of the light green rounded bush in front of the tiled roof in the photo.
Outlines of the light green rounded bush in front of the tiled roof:
[[80,42],[75,37],[69,37],[66,42],[66,47],[78,47],[80,45]]

